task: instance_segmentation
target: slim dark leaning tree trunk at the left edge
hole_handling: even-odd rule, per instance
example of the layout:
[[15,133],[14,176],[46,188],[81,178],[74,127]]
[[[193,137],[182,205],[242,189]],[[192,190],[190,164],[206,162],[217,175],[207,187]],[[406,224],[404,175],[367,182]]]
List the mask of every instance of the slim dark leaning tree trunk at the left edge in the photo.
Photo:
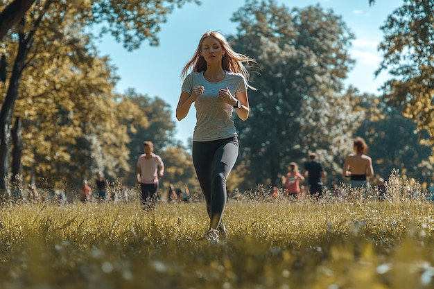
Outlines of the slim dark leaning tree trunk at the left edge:
[[15,102],[18,98],[19,83],[26,64],[28,52],[33,43],[33,33],[26,38],[24,33],[19,35],[19,47],[17,58],[15,58],[12,75],[9,80],[6,98],[0,110],[0,193],[6,191],[8,177],[8,150],[10,148],[10,125],[14,112]]

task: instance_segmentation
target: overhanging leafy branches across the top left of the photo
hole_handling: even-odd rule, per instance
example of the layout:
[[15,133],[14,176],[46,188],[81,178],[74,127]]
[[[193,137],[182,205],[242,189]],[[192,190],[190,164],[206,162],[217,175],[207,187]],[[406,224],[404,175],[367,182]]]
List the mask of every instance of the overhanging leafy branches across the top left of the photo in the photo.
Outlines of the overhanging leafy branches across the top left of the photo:
[[[0,9],[6,7],[10,1],[0,1]],[[32,3],[35,2],[33,5]],[[160,30],[160,24],[166,22],[167,15],[175,7],[181,8],[185,3],[194,2],[200,4],[199,0],[98,0],[88,1],[79,0],[75,2],[62,0],[47,1],[12,1],[15,8],[8,10],[6,18],[19,19],[24,15],[25,10],[29,10],[35,17],[43,15],[46,8],[50,8],[49,14],[53,11],[62,11],[62,15],[75,15],[77,22],[85,26],[98,26],[99,35],[110,33],[116,41],[123,42],[125,49],[138,49],[140,44],[148,40],[150,45],[158,45],[159,40],[157,33]],[[30,8],[30,9],[29,9]],[[3,11],[2,11],[3,12]],[[0,14],[1,16],[1,14]],[[2,19],[3,20],[3,19]],[[57,19],[59,21],[61,19]],[[13,21],[16,22],[16,21]],[[12,24],[3,27],[3,21],[0,21],[1,35],[7,32]],[[15,24],[15,23],[13,23]],[[17,27],[15,27],[17,28]],[[96,37],[97,35],[94,35]]]

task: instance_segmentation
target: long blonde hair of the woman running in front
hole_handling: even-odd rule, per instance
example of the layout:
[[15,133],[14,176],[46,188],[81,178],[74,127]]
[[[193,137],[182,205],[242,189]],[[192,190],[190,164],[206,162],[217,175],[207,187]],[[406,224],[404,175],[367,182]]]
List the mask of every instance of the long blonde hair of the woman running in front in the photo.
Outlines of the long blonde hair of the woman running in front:
[[[245,69],[243,62],[247,62],[249,65],[250,62],[257,63],[254,59],[249,58],[248,56],[245,56],[240,53],[236,53],[234,50],[232,50],[232,47],[227,43],[225,37],[217,32],[217,31],[208,31],[202,37],[200,37],[200,42],[198,44],[198,48],[196,49],[193,58],[189,62],[187,62],[184,66],[184,69],[182,69],[181,78],[184,80],[187,76],[187,74],[191,72],[202,72],[207,70],[207,62],[205,61],[205,58],[200,55],[200,51],[202,50],[202,44],[207,37],[214,37],[218,42],[220,42],[220,45],[223,48],[223,51],[225,54],[223,54],[223,60],[222,60],[222,68],[225,71],[232,71],[235,73],[241,73],[243,74],[245,80],[249,81],[249,72],[247,69]],[[254,89],[254,87],[251,87],[251,89]],[[256,89],[255,89],[256,90]]]

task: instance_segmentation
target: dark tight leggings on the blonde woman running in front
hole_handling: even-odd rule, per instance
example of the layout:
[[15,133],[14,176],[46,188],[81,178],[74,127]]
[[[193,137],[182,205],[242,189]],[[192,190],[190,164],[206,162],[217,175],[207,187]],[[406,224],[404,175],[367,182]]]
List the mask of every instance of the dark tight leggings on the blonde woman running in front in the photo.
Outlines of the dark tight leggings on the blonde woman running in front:
[[216,229],[226,206],[226,179],[238,157],[238,138],[193,141],[193,165],[207,202],[210,227]]

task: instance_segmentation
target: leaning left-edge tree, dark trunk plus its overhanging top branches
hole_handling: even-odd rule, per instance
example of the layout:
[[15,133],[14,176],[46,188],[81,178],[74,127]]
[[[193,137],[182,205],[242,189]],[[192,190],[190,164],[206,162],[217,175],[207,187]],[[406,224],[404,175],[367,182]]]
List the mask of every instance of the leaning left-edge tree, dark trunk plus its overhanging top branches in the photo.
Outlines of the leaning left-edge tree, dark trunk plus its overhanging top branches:
[[[159,23],[165,21],[166,14],[171,12],[174,5],[180,7],[186,2],[189,2],[189,0],[146,2],[139,0],[83,0],[73,3],[70,1],[46,0],[35,3],[31,12],[27,13],[26,17],[22,17],[20,24],[10,30],[9,33],[11,42],[18,40],[18,49],[16,55],[6,55],[8,58],[13,59],[14,64],[7,82],[6,96],[0,110],[0,191],[6,189],[10,126],[15,102],[19,94],[21,77],[26,68],[26,59],[33,49],[34,37],[41,26],[42,29],[53,31],[53,34],[55,34],[56,25],[60,25],[64,23],[64,19],[71,19],[72,17],[75,26],[71,26],[71,30],[78,28],[77,32],[83,33],[83,29],[87,26],[100,25],[103,27],[100,34],[111,33],[116,40],[123,42],[125,48],[132,50],[137,49],[139,44],[146,39],[150,40],[151,45],[157,45],[156,33],[159,31]],[[198,2],[196,1],[196,3]],[[3,1],[0,2],[0,8],[5,5]],[[46,21],[47,18],[49,18],[49,21]],[[59,32],[59,30],[57,31]],[[59,39],[63,38],[62,33],[57,33],[57,36]],[[69,44],[73,46],[73,43]],[[1,63],[5,63],[3,59]]]

